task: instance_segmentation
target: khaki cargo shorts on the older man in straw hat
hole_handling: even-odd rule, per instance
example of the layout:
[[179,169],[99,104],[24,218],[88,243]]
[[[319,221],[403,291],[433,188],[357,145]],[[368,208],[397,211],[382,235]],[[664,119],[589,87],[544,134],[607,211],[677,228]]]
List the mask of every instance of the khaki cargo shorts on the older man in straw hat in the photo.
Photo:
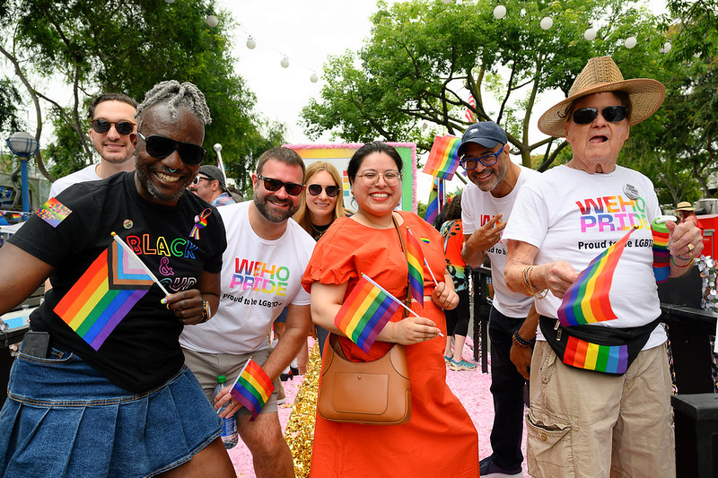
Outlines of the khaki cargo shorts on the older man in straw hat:
[[569,367],[539,341],[530,383],[531,476],[676,476],[665,345],[640,352],[616,377]]

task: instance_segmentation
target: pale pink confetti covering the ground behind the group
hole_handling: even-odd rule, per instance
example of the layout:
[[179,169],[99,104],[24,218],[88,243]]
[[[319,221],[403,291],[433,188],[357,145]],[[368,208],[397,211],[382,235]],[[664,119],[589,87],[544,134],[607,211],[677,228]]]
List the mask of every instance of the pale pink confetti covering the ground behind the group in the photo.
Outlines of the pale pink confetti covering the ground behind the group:
[[[313,340],[309,341],[310,347],[313,346]],[[470,339],[467,339],[468,347],[471,345]],[[468,360],[470,351],[468,347],[464,352],[464,359]],[[490,359],[489,359],[490,360]],[[302,377],[295,377],[293,380],[282,382],[285,386],[286,401],[285,404],[279,405],[279,422],[282,430],[285,430],[286,422],[292,413],[294,397],[302,385]],[[446,383],[451,387],[451,391],[459,397],[461,404],[467,409],[471,420],[477,427],[478,433],[478,454],[481,458],[491,455],[491,444],[489,435],[492,425],[494,424],[494,402],[489,392],[491,386],[491,375],[481,372],[481,365],[477,369],[470,371],[453,371],[446,370]],[[526,428],[523,430],[523,454],[526,455]],[[229,450],[230,458],[237,476],[254,477],[254,468],[250,450],[240,442],[236,447]],[[523,464],[524,477],[529,478],[530,474],[526,473],[526,461]]]

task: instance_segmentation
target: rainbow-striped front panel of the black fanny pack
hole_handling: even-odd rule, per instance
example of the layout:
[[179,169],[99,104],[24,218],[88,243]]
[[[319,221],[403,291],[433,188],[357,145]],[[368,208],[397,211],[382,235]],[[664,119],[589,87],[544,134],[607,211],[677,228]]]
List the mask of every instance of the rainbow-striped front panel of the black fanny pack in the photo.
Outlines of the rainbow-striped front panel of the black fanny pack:
[[628,346],[599,345],[569,335],[562,361],[579,369],[622,374],[628,369]]

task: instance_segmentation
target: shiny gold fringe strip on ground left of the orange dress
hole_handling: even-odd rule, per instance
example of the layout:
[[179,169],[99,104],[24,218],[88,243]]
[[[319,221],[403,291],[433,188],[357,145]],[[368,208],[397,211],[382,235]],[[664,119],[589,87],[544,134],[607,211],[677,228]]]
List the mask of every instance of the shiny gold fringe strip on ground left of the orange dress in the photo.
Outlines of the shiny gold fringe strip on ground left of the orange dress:
[[314,421],[317,413],[321,357],[319,346],[314,345],[309,355],[307,373],[299,387],[292,413],[286,423],[285,440],[294,459],[294,474],[307,478],[311,465],[311,445],[314,442]]

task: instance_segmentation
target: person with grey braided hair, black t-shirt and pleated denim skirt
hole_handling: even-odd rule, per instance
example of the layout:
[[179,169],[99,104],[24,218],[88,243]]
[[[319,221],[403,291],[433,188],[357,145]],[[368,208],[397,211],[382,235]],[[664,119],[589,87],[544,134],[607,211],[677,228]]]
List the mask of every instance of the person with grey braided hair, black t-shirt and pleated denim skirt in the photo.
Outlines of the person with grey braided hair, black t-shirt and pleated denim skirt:
[[178,340],[219,304],[222,218],[186,192],[209,110],[169,81],[137,119],[136,171],[68,187],[0,248],[0,314],[55,286],[13,363],[0,475],[235,476]]

